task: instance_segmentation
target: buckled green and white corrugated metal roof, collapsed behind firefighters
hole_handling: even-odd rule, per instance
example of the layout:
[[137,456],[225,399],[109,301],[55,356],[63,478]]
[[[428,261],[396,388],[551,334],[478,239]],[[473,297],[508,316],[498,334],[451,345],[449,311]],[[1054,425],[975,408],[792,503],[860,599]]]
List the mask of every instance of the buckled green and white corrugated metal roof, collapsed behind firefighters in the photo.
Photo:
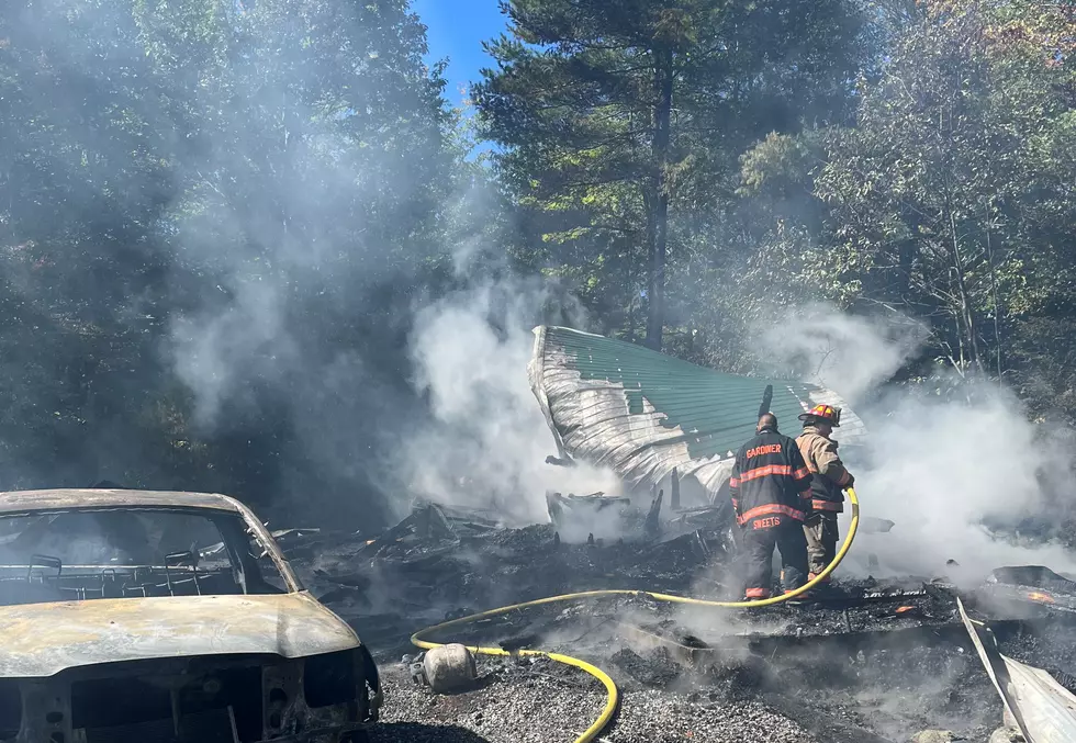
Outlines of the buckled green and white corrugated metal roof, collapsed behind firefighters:
[[754,435],[770,384],[770,410],[786,430],[826,403],[843,408],[842,443],[865,434],[844,401],[812,384],[725,374],[571,328],[534,333],[530,389],[560,455],[608,466],[631,484],[653,485],[676,469],[717,493],[733,453]]

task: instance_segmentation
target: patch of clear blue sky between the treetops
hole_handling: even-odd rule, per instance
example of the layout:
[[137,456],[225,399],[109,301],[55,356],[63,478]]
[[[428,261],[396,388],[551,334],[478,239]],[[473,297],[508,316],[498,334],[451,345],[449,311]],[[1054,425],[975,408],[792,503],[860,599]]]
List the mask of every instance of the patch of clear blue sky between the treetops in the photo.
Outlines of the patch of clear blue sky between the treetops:
[[504,31],[497,0],[414,0],[412,9],[429,29],[429,61],[449,59],[445,95],[459,105],[461,91],[479,79],[480,69],[492,66],[482,42]]

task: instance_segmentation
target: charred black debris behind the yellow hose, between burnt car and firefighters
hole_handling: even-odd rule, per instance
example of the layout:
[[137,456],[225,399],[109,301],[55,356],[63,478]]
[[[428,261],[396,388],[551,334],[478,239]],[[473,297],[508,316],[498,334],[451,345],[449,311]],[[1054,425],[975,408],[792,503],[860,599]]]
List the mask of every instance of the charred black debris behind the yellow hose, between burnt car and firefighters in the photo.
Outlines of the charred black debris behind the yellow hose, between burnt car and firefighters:
[[[731,508],[662,514],[662,502],[643,510],[549,493],[549,524],[506,528],[494,511],[418,500],[376,539],[293,530],[280,542],[323,603],[393,651],[407,646],[404,631],[580,590],[697,592],[700,581],[706,596],[732,599],[739,586],[720,570],[735,554]],[[716,570],[702,575],[706,566]]]

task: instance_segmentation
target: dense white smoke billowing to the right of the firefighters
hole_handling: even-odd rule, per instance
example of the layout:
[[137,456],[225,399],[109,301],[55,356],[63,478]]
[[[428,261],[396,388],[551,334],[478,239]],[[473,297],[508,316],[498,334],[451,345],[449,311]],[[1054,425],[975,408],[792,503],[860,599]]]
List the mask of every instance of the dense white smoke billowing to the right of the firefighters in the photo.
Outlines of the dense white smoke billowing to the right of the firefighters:
[[[769,336],[774,358],[812,370],[814,381],[852,401],[886,382],[923,337],[904,318],[864,319],[823,306],[793,313],[780,327]],[[896,526],[860,536],[845,565],[866,570],[873,553],[882,572],[967,581],[1001,565],[1076,568],[1060,544],[1016,543],[985,526],[1041,513],[1058,488],[1073,492],[1073,451],[1062,437],[1030,423],[1008,390],[954,376],[940,371],[856,407],[868,429],[867,455],[842,455],[856,477],[862,515]],[[957,384],[959,396],[942,394]],[[840,440],[840,429],[834,438]],[[946,567],[948,561],[960,567]]]

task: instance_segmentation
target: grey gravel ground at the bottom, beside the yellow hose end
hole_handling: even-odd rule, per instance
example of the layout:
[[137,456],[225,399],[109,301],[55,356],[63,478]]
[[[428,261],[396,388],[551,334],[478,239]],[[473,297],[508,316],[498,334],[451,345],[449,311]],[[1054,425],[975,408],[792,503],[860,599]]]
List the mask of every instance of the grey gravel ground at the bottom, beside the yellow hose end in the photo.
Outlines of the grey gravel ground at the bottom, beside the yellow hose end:
[[[545,661],[480,663],[483,688],[437,696],[396,664],[382,668],[385,703],[372,743],[571,743],[605,696],[590,676]],[[819,743],[761,703],[688,699],[655,690],[621,694],[608,743]]]

